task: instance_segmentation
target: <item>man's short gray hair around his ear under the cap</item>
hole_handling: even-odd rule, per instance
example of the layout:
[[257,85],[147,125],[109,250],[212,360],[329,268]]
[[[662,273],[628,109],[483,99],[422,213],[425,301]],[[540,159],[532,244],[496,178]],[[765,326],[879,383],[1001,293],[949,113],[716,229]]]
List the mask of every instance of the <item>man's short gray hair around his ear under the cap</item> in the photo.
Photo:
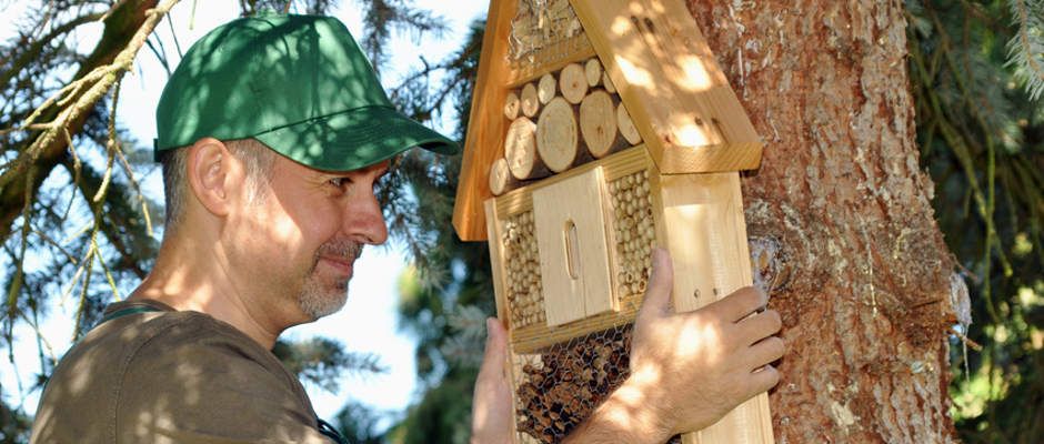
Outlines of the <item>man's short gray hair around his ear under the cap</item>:
[[[247,199],[249,202],[262,202],[268,195],[263,184],[272,179],[272,165],[275,152],[257,139],[235,139],[222,141],[247,169]],[[163,198],[167,201],[165,231],[173,231],[184,219],[185,199],[189,184],[185,169],[189,162],[189,147],[175,148],[160,153],[163,168]]]

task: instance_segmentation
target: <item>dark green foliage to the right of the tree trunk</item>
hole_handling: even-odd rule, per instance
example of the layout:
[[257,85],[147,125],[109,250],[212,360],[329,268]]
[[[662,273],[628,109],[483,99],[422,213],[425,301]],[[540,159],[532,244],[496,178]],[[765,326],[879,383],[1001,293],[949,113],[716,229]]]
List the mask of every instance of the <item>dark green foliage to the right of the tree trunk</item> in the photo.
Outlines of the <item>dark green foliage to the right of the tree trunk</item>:
[[1040,442],[1044,406],[1044,48],[1040,1],[907,1],[910,75],[934,208],[971,285],[981,352],[952,342],[965,442]]

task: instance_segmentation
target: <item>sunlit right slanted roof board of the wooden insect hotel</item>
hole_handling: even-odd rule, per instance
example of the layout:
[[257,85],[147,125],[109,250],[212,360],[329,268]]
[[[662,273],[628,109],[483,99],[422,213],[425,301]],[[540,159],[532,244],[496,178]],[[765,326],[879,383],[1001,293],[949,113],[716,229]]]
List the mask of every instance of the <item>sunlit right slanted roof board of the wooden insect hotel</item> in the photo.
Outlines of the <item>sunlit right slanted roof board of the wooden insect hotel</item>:
[[680,0],[571,0],[663,173],[739,171],[762,142]]

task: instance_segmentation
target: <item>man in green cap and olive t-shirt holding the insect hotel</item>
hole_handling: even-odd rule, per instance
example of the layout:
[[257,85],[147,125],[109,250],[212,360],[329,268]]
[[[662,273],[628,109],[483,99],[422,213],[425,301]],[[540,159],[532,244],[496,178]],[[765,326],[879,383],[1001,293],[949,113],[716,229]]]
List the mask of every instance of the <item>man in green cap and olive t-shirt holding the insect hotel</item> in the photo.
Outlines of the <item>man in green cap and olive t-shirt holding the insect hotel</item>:
[[[263,16],[197,42],[157,111],[168,222],[150,275],[58,365],[33,443],[329,443],[271,354],[339,310],[363,245],[388,238],[373,186],[411,147],[458,147],[394,111],[335,19]],[[670,313],[657,252],[632,376],[571,436],[662,442],[774,385],[779,315],[745,290]],[[509,441],[505,333],[491,320],[473,441]]]

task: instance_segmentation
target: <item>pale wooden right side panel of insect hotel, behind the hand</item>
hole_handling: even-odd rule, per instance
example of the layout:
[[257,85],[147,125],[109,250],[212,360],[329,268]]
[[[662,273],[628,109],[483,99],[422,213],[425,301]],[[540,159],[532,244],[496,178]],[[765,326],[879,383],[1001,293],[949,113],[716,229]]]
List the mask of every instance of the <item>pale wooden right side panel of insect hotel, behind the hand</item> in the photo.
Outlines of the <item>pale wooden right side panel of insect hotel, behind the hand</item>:
[[[739,173],[661,178],[663,228],[674,261],[674,306],[692,311],[751,285]],[[766,394],[720,422],[683,436],[686,444],[771,444]]]

